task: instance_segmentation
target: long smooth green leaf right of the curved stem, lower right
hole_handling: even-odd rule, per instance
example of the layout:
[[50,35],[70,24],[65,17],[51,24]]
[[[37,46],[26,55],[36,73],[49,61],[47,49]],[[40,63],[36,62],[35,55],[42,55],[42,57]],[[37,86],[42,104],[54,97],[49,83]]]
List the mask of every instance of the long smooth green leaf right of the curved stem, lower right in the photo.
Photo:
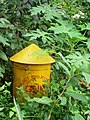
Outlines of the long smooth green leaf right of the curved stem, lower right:
[[75,93],[75,92],[66,92],[66,94],[70,95],[74,99],[80,100],[82,102],[87,102],[87,99],[86,99],[85,95],[83,95],[83,94],[79,94],[79,93]]

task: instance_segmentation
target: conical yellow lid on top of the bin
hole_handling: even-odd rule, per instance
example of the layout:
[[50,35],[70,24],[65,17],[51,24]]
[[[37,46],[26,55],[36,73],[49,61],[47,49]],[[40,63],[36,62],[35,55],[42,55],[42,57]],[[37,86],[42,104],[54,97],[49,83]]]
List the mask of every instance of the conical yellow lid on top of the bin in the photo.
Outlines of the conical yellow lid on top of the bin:
[[51,56],[35,44],[31,44],[24,48],[14,56],[10,57],[10,60],[23,64],[50,64],[55,62]]

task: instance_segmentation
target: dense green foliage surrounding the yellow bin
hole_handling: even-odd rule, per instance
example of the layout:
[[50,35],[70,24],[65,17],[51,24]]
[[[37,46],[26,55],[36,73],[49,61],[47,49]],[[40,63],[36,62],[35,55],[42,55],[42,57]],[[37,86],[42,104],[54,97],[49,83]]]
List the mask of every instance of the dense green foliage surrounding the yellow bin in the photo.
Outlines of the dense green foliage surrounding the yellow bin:
[[26,101],[14,99],[14,107],[7,83],[0,87],[2,119],[16,120],[16,111],[21,120],[90,119],[89,7],[89,0],[0,2],[0,84],[12,80],[8,58],[31,43],[56,61],[48,96],[30,98],[21,91]]

